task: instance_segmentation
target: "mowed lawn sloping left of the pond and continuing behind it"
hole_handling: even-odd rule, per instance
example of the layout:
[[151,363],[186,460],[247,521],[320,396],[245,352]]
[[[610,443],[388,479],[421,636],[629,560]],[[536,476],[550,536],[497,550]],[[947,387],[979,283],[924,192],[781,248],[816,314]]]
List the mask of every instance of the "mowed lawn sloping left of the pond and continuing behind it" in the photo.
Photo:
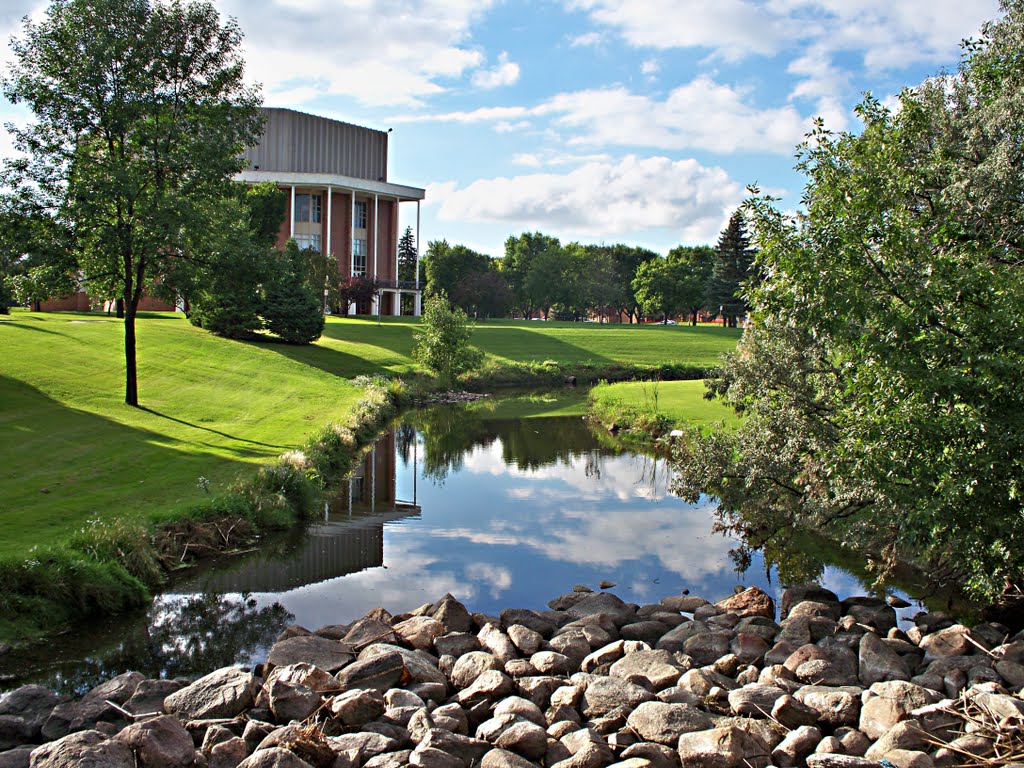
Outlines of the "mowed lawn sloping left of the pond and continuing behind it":
[[[416,326],[330,317],[318,342],[293,347],[219,339],[177,314],[143,315],[138,410],[122,401],[120,321],[0,315],[0,556],[58,541],[93,516],[195,503],[205,493],[200,477],[216,492],[248,476],[343,419],[359,396],[348,378],[414,371]],[[737,338],[721,328],[488,321],[473,340],[520,362],[711,365]]]

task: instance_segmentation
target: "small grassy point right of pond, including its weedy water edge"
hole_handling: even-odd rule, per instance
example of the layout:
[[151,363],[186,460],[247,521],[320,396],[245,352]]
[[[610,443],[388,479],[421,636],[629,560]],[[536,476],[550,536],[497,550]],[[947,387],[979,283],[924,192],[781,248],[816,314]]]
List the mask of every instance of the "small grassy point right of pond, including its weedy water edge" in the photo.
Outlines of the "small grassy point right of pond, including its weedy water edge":
[[645,442],[675,428],[733,428],[735,412],[706,400],[703,381],[630,381],[599,384],[590,391],[592,418],[627,440]]

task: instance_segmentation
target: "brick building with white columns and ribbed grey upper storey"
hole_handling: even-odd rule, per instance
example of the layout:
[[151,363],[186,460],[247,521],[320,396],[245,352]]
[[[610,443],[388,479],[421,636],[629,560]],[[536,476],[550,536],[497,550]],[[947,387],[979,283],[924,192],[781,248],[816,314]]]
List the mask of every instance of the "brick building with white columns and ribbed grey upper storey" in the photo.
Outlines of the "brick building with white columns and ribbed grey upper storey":
[[246,152],[246,169],[236,178],[269,181],[288,191],[278,247],[294,238],[300,247],[337,259],[342,279],[375,278],[382,305],[375,299],[360,311],[401,314],[401,296],[408,294],[415,297],[414,314],[420,314],[418,281],[398,282],[398,206],[416,203],[419,248],[425,191],[387,180],[388,132],[294,110],[267,108],[263,115],[263,137]]

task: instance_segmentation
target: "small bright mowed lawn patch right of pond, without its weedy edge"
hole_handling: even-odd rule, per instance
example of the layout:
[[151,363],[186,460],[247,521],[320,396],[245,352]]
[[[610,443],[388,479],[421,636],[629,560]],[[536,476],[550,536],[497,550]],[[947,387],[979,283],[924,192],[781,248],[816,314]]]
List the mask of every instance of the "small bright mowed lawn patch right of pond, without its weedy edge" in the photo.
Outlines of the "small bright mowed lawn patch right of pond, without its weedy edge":
[[593,397],[601,410],[626,407],[660,414],[680,426],[710,428],[723,422],[727,427],[739,424],[739,417],[732,409],[720,400],[706,400],[703,393],[702,381],[625,381],[595,387]]

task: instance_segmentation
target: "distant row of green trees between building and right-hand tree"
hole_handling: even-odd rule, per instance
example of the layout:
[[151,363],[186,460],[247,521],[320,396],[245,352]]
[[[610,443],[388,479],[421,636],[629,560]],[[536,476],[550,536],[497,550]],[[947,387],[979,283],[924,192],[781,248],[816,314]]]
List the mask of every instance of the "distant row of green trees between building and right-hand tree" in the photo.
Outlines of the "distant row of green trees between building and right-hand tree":
[[684,316],[696,325],[702,314],[734,328],[749,309],[742,288],[756,279],[754,257],[737,211],[717,245],[678,246],[667,256],[625,244],[562,244],[535,231],[510,236],[497,259],[431,241],[421,272],[429,293],[444,293],[475,317],[669,323]]

